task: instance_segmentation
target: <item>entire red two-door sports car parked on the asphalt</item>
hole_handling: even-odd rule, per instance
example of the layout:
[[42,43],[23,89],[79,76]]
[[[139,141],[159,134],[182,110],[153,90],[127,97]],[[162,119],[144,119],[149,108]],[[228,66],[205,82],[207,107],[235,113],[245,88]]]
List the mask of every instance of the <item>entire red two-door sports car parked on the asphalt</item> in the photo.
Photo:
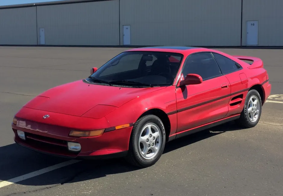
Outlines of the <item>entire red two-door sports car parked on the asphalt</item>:
[[168,141],[232,120],[254,127],[270,91],[256,57],[197,47],[136,48],[93,68],[86,79],[36,96],[14,116],[12,129],[17,144],[42,153],[124,156],[147,167]]

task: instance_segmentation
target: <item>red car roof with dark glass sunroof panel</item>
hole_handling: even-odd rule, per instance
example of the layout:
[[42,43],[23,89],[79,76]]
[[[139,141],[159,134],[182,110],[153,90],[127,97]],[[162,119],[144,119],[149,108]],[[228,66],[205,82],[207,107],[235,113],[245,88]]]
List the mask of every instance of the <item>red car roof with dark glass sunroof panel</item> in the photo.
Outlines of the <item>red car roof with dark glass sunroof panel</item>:
[[191,52],[199,52],[199,51],[207,51],[206,48],[201,47],[191,47],[191,46],[149,46],[149,47],[141,47],[129,49],[127,51],[154,51],[154,52],[176,52],[181,54],[191,53]]

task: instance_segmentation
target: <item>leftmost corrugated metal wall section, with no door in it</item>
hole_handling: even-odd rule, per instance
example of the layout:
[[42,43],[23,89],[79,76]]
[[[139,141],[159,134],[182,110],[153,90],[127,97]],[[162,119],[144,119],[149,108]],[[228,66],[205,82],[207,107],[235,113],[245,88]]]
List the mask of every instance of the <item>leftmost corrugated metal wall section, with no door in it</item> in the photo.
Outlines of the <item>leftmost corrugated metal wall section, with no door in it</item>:
[[0,44],[37,44],[36,7],[0,9]]

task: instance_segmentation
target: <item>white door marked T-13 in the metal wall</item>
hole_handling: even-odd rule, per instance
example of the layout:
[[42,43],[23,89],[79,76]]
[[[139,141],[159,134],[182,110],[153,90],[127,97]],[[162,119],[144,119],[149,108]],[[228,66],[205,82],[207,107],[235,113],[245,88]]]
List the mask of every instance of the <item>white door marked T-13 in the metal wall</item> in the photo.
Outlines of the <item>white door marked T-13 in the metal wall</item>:
[[258,45],[258,21],[247,21],[247,45]]

